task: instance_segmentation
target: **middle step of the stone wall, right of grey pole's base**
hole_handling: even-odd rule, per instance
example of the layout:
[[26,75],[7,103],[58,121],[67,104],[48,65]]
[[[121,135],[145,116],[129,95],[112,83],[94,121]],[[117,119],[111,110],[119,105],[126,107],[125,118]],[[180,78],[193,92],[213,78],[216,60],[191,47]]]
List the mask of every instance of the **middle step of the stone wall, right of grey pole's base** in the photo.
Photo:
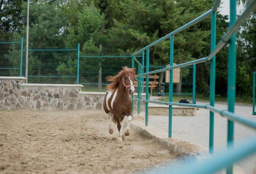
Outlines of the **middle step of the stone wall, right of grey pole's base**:
[[83,85],[22,84],[22,107],[46,111],[82,109],[83,98],[78,94],[81,87]]

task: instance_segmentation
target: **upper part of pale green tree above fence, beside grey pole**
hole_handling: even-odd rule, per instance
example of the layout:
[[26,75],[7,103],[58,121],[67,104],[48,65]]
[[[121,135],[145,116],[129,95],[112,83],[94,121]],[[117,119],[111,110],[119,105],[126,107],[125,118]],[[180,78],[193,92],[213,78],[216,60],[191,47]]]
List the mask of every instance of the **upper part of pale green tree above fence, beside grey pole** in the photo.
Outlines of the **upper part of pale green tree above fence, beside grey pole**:
[[[29,7],[29,47],[58,48],[64,47],[63,22],[55,4],[30,1]],[[24,22],[27,21],[27,3],[22,5]],[[17,37],[26,36],[26,26],[22,26]],[[26,40],[26,39],[25,39]]]

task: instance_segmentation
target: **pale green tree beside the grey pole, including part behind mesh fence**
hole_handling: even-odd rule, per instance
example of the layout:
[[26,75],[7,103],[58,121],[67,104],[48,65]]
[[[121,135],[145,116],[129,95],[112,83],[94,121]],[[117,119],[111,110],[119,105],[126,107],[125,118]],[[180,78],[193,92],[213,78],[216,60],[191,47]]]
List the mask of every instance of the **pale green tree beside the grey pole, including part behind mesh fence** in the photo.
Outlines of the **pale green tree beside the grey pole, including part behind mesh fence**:
[[[64,47],[62,26],[64,20],[60,17],[55,4],[30,1],[29,16],[29,48],[59,48]],[[14,40],[19,40],[26,36],[26,16],[27,3],[22,4],[22,16],[24,16],[21,32],[13,34]],[[29,51],[29,61],[34,64],[29,65],[30,76],[57,75],[56,68],[58,63],[66,62],[68,56],[63,56],[57,51]],[[25,54],[24,54],[25,55]],[[33,60],[34,59],[34,60]],[[57,64],[56,64],[57,62]]]

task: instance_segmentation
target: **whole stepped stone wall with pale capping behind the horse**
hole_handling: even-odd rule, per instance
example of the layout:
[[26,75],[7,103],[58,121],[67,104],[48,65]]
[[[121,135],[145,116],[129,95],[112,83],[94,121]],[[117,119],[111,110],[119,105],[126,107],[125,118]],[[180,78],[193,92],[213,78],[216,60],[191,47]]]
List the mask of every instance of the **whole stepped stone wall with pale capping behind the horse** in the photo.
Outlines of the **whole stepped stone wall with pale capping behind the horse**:
[[[81,92],[81,87],[83,85],[25,84],[24,77],[0,77],[0,109],[103,109],[106,93]],[[145,96],[142,97],[145,99]],[[134,102],[134,109],[136,108],[137,102]],[[141,108],[144,110],[144,107]]]

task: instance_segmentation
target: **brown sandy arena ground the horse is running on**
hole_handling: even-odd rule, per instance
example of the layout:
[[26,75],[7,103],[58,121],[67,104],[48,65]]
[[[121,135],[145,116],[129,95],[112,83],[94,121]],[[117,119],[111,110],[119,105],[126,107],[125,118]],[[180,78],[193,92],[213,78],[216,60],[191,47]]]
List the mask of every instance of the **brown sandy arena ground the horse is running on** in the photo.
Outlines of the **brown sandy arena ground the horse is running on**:
[[176,158],[132,130],[117,135],[103,111],[0,111],[0,173],[132,173]]

